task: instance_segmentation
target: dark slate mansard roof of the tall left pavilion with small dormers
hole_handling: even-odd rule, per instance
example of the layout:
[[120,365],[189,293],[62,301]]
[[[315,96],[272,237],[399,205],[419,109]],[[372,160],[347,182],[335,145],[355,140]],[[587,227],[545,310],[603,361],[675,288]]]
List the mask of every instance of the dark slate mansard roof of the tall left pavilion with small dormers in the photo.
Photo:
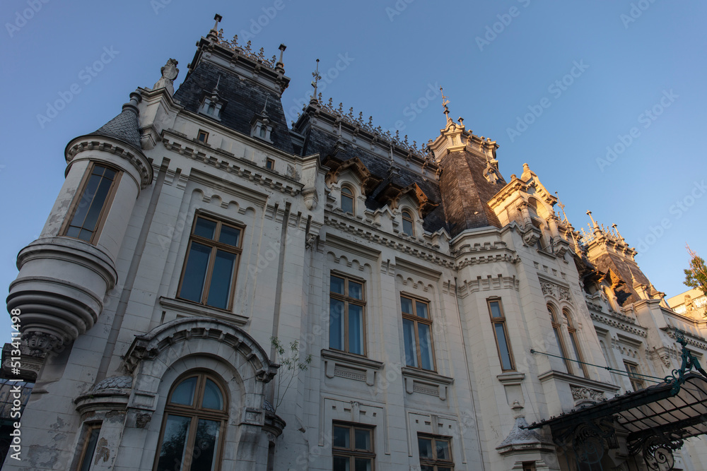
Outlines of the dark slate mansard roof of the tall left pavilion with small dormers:
[[190,112],[197,113],[204,95],[211,94],[217,81],[218,96],[226,102],[221,109],[221,120],[217,120],[220,124],[250,136],[250,120],[262,112],[267,98],[267,114],[274,126],[271,133],[273,145],[286,153],[293,153],[279,95],[250,79],[238,77],[233,71],[199,62],[175,92],[175,100]]

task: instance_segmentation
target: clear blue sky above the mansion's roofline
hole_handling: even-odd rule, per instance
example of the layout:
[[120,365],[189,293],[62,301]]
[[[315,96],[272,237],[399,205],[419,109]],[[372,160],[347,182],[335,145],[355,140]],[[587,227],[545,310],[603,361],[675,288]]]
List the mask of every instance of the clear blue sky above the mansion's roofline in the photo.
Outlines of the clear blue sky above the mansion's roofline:
[[5,0],[4,295],[62,186],[66,143],[151,87],[170,57],[181,83],[214,13],[225,37],[267,56],[287,45],[288,121],[316,59],[326,100],[417,143],[445,123],[441,85],[450,116],[498,142],[506,180],[527,162],[575,228],[586,210],[617,223],[658,290],[686,290],[686,243],[707,256],[703,2]]

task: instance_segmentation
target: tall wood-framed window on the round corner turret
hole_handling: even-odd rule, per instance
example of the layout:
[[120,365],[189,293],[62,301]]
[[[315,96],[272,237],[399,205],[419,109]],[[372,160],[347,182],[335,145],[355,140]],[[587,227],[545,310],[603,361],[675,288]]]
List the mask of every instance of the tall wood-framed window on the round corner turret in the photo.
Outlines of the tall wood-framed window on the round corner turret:
[[83,179],[80,194],[74,200],[71,217],[62,235],[95,243],[103,227],[107,208],[110,206],[120,173],[104,165],[92,164]]

